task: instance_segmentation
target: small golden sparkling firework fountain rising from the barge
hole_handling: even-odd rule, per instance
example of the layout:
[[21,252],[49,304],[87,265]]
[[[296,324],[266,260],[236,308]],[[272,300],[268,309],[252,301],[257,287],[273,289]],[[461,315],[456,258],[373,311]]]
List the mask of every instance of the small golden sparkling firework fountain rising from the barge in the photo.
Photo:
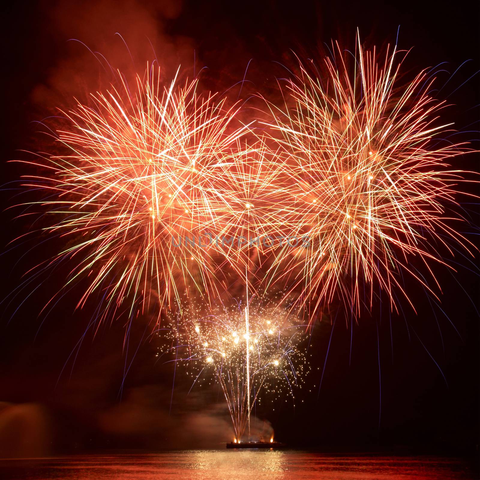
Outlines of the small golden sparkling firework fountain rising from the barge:
[[294,388],[303,384],[310,369],[307,325],[287,320],[277,306],[223,308],[208,315],[191,310],[187,317],[180,328],[175,316],[170,318],[162,353],[184,365],[193,384],[220,386],[241,441],[256,403],[264,396],[272,401],[284,393],[294,397]]

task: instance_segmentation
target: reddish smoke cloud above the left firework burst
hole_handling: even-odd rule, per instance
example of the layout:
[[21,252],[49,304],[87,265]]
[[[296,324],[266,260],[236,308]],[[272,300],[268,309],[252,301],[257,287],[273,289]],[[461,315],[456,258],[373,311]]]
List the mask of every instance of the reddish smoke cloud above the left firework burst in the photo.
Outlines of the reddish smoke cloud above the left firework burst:
[[45,20],[59,52],[32,92],[36,108],[45,114],[122,80],[134,84],[147,63],[158,64],[166,80],[180,64],[192,67],[192,39],[167,33],[181,6],[176,0],[59,2]]

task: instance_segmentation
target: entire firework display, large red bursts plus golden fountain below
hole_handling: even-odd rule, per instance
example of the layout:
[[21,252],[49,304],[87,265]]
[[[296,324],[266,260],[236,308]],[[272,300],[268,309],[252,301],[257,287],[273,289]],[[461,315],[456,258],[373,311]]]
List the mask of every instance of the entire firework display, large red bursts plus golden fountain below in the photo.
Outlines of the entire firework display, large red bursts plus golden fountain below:
[[149,65],[62,112],[49,153],[23,161],[36,199],[21,204],[43,219],[29,235],[62,247],[13,296],[68,264],[47,310],[77,284],[97,324],[154,306],[164,354],[219,385],[238,441],[265,391],[302,383],[315,312],[336,299],[359,319],[379,290],[415,308],[407,277],[437,296],[437,246],[473,247],[451,214],[470,149],[444,141],[430,70],[403,83],[396,46],[335,47],[298,60],[280,103],[205,92],[180,68],[164,83]]

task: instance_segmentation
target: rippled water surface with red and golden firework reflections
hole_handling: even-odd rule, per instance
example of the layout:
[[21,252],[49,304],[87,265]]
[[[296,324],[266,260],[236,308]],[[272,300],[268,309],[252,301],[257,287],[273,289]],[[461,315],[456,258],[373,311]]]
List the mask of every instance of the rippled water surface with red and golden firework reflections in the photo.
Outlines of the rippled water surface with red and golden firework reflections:
[[[263,475],[263,478],[262,478]],[[300,451],[189,450],[0,460],[0,478],[41,479],[470,479],[461,460],[412,456],[332,456]]]

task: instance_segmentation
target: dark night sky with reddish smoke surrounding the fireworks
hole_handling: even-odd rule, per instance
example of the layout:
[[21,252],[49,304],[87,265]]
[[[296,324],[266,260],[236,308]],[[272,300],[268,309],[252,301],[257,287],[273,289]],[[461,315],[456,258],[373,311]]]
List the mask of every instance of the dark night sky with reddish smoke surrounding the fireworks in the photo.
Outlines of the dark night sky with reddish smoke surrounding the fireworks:
[[[151,42],[166,77],[179,63],[193,71],[195,52],[195,71],[208,67],[204,84],[221,91],[243,78],[251,59],[249,88],[262,90],[280,74],[274,61],[288,62],[289,49],[303,58],[317,58],[324,42],[332,38],[353,48],[356,27],[365,45],[382,47],[395,42],[400,26],[399,48],[413,48],[405,62],[407,72],[447,62],[444,69],[449,73],[439,75],[439,83],[445,84],[470,60],[439,97],[455,104],[445,112],[447,121],[455,121],[456,128],[466,132],[464,138],[476,142],[479,76],[468,79],[479,70],[478,3],[447,5],[78,1],[4,6],[2,183],[22,174],[22,168],[7,165],[8,160],[24,158],[20,150],[45,146],[34,121],[68,105],[72,96],[80,99],[108,86],[110,79],[92,54],[67,40],[81,40],[127,74],[135,70],[116,32],[142,70],[153,57]],[[478,160],[472,154],[458,158],[456,165],[478,170]],[[15,202],[14,194],[5,187],[1,193],[5,207]],[[467,208],[478,212],[476,205]],[[13,215],[2,214],[2,247],[28,228],[23,220],[13,221]],[[472,222],[478,224],[476,214]],[[18,285],[35,255],[21,247],[0,257],[5,295]],[[317,324],[312,374],[295,409],[286,404],[259,412],[276,438],[330,450],[408,446],[417,451],[478,452],[478,256],[471,264],[456,260],[456,272],[434,267],[443,289],[444,313],[412,285],[408,288],[417,314],[402,305],[401,315],[389,315],[386,305],[381,309],[377,304],[354,326],[351,358],[344,313],[339,313],[333,334],[330,322]],[[95,338],[87,332],[76,349],[91,312],[74,312],[71,298],[62,300],[46,319],[38,317],[52,288],[60,288],[61,276],[61,271],[53,272],[15,314],[24,297],[1,305],[0,456],[215,447],[231,440],[216,391],[193,389],[187,396],[190,384],[179,375],[172,396],[172,367],[156,361],[156,340],[144,334],[145,319],[132,332],[131,347],[125,352],[121,320],[104,325]],[[131,361],[123,381],[125,364]]]

